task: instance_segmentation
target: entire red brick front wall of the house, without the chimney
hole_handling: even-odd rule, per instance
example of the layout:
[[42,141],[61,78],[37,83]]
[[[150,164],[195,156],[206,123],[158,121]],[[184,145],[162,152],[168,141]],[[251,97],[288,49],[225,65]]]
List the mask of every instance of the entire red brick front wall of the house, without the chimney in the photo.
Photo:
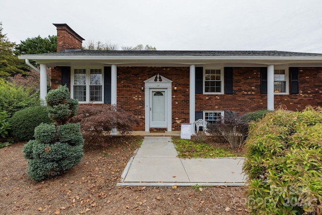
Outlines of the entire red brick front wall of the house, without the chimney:
[[[60,67],[52,70],[52,89],[61,83]],[[144,130],[144,81],[156,74],[173,81],[178,91],[172,91],[172,128],[180,130],[189,123],[189,67],[117,67],[117,104],[139,118],[135,130]],[[303,110],[305,106],[322,105],[322,67],[299,68],[299,94],[275,95],[275,106]],[[267,95],[260,94],[260,68],[234,67],[232,95],[196,95],[196,111],[232,110],[251,112],[267,109]]]

